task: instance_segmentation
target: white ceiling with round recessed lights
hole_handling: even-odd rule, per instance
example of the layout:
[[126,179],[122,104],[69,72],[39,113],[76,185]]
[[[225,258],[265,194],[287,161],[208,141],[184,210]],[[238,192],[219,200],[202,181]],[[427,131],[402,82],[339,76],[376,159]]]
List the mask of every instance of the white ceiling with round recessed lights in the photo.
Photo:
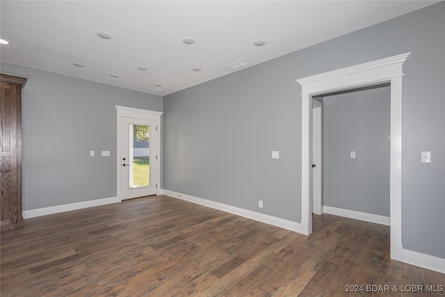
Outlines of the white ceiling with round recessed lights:
[[[168,95],[237,71],[227,65],[243,59],[262,63],[437,2],[1,0],[0,37],[11,44],[1,45],[0,58]],[[255,47],[258,39],[266,45]]]

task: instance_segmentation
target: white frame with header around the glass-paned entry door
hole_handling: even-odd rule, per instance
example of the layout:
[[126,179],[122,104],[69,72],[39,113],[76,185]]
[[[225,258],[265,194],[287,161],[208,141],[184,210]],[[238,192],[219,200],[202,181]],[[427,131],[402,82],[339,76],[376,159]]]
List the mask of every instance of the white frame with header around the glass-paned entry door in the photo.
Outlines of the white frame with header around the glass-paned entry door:
[[153,138],[153,143],[156,145],[150,146],[150,150],[157,156],[157,159],[150,160],[150,170],[154,170],[156,173],[152,182],[156,184],[156,195],[161,193],[161,115],[163,112],[160,111],[148,111],[145,109],[134,109],[132,107],[118,106],[116,105],[116,110],[118,111],[118,143],[116,150],[116,165],[118,168],[117,174],[117,196],[118,202],[122,202],[122,118],[140,118],[144,120],[152,120],[156,122],[155,131],[150,131],[150,137]]

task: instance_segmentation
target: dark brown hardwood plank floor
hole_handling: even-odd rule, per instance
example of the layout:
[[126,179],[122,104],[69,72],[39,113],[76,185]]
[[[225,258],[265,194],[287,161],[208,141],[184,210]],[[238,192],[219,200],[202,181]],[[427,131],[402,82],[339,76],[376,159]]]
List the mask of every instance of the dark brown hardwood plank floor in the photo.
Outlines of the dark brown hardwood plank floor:
[[[31,218],[1,234],[0,292],[444,296],[426,292],[445,286],[444,274],[389,259],[389,227],[324,214],[313,229],[304,236],[163,195]],[[423,292],[401,292],[414,285]]]

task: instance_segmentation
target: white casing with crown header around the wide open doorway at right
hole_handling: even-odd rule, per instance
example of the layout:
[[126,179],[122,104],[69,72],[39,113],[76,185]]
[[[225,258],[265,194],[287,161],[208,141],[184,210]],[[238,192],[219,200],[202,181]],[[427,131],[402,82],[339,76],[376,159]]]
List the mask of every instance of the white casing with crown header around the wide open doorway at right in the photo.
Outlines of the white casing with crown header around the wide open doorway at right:
[[349,90],[359,86],[372,86],[380,83],[391,84],[390,120],[390,237],[391,259],[403,261],[402,247],[402,79],[403,63],[409,53],[383,58],[369,63],[342,68],[312,77],[297,79],[302,86],[301,109],[301,231],[312,233],[310,213],[310,120],[311,98],[332,91]]

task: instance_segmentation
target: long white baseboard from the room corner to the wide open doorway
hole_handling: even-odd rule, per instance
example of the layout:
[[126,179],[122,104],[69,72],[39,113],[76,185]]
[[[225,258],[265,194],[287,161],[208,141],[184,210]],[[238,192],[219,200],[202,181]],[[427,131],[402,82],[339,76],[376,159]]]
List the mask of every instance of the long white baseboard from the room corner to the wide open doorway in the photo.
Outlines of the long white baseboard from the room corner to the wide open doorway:
[[197,198],[191,195],[186,195],[182,193],[177,193],[174,191],[169,191],[163,189],[164,195],[170,196],[172,198],[177,198],[185,200],[188,202],[193,202],[195,204],[200,204],[204,207],[210,207],[213,209],[218,209],[220,211],[228,212],[229,214],[236,214],[237,216],[242,216],[244,218],[250,218],[251,220],[257,220],[261,223],[266,223],[269,225],[274,225],[281,227],[286,230],[291,230],[293,232],[303,233],[302,226],[300,223],[293,222],[291,220],[285,220],[284,218],[277,218],[275,216],[269,216],[268,214],[261,214],[256,211],[250,211],[247,209],[242,209],[239,207],[233,207],[232,205],[223,204],[220,202],[215,202],[211,200],[206,200],[202,198]]

